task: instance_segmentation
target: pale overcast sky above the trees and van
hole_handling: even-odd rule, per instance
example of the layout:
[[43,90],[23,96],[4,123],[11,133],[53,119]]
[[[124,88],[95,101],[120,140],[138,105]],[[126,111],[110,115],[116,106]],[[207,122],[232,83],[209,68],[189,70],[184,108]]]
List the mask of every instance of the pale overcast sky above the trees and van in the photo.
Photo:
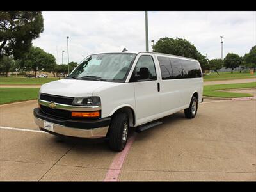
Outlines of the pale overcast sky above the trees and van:
[[[145,51],[145,12],[43,12],[44,32],[33,45],[67,63],[80,62],[99,52]],[[185,38],[207,58],[220,58],[220,36],[224,35],[224,56],[243,56],[256,45],[256,12],[148,12],[148,36]],[[149,51],[152,51],[150,46]]]

